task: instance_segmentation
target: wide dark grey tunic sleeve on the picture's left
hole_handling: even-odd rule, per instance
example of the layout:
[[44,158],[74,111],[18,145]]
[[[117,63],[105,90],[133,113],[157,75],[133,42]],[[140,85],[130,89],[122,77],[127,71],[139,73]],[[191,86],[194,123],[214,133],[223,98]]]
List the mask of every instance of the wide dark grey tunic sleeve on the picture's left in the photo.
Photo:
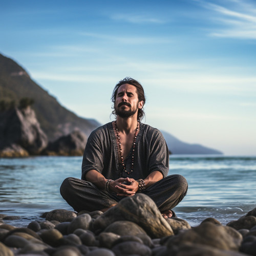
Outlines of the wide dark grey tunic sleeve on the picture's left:
[[86,180],[86,174],[89,170],[97,170],[102,173],[103,169],[103,153],[102,140],[98,132],[92,132],[88,138],[86,148],[82,159],[82,180]]

